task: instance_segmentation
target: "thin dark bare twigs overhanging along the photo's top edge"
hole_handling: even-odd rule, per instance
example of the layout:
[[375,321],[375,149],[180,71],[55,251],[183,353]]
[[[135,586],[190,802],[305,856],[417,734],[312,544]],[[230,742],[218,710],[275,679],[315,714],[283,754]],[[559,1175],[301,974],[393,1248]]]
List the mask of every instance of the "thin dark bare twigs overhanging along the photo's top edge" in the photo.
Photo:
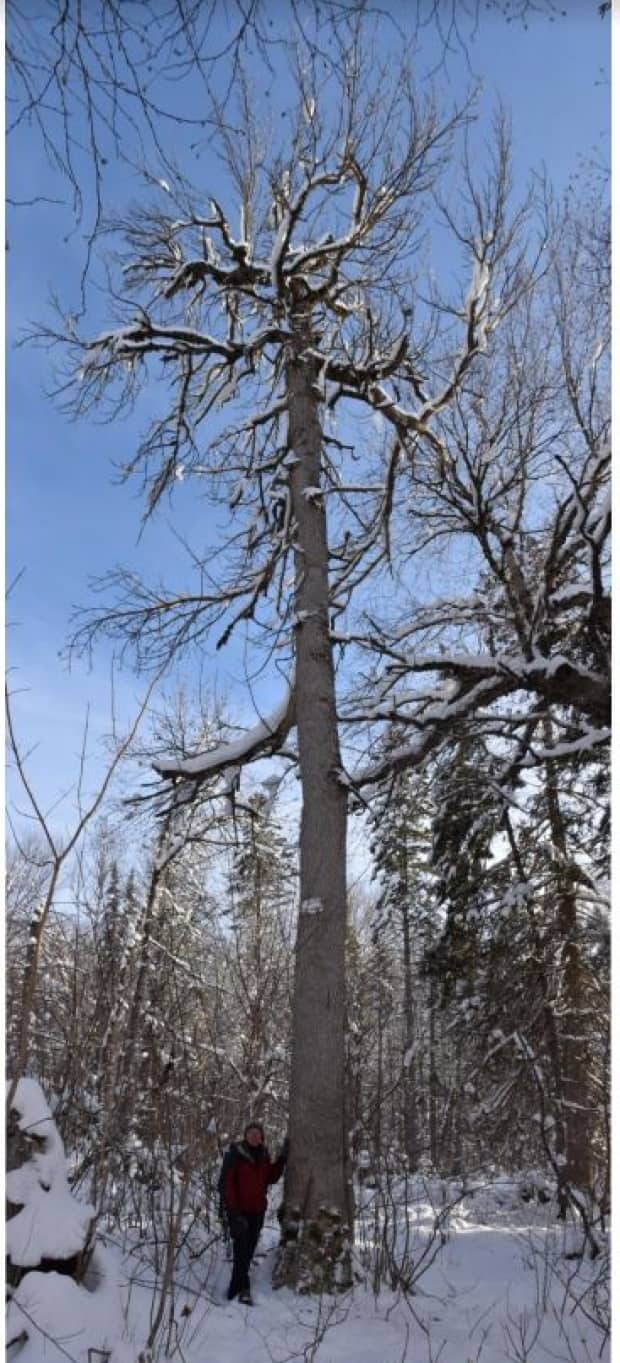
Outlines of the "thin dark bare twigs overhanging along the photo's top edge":
[[[589,0],[593,18],[610,11],[610,0]],[[484,11],[508,23],[537,18],[567,19],[561,0],[416,0],[410,12],[387,3],[382,15],[407,38],[436,33],[448,53],[467,50]],[[121,0],[50,0],[38,11],[7,5],[8,132],[25,121],[35,124],[45,155],[65,181],[74,214],[89,222],[89,255],[102,228],[106,168],[117,158],[144,161],[149,150],[166,157],[168,134],[200,134],[208,114],[196,114],[185,90],[193,80],[208,98],[218,68],[226,71],[230,94],[244,57],[255,52],[266,71],[278,49],[312,33],[315,53],[328,52],[330,34],[369,11],[367,0],[311,0],[304,15],[296,0],[285,0],[274,15],[268,0],[176,0],[153,10],[139,0],[131,10]],[[179,93],[181,91],[181,94]],[[86,155],[72,136],[86,112]],[[128,150],[129,149],[129,150]],[[90,181],[91,195],[84,192]],[[10,202],[15,202],[11,200]],[[48,202],[35,196],[27,204]],[[53,202],[59,202],[57,199]]]

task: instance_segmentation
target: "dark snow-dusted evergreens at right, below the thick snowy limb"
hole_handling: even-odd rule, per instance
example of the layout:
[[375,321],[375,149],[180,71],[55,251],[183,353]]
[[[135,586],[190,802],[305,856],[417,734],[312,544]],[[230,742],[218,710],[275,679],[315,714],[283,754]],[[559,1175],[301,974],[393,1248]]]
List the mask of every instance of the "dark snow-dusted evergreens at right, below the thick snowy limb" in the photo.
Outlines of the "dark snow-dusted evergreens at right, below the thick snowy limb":
[[506,801],[489,754],[478,746],[470,765],[474,751],[441,754],[435,857],[447,912],[427,965],[465,1062],[469,1157],[480,1142],[482,1161],[491,1150],[508,1165],[542,1159],[565,1213],[571,1189],[590,1197],[605,1148],[600,759],[546,763]]

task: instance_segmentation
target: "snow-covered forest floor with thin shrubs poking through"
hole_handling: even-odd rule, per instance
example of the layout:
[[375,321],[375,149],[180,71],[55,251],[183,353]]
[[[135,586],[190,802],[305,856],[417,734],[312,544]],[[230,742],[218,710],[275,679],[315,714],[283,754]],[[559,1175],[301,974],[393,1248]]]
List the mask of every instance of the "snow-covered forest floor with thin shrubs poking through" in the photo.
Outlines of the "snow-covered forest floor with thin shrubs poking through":
[[[424,1194],[417,1180],[409,1190],[409,1236],[403,1243],[401,1217],[395,1243],[401,1265],[420,1272],[407,1295],[384,1285],[372,1289],[379,1221],[376,1194],[364,1189],[356,1243],[356,1273],[364,1280],[345,1296],[319,1302],[273,1291],[278,1225],[268,1219],[252,1270],[255,1306],[225,1300],[229,1264],[222,1240],[211,1236],[203,1253],[193,1249],[191,1257],[181,1250],[177,1257],[174,1295],[166,1303],[158,1345],[144,1355],[140,1349],[158,1299],[153,1261],[144,1242],[131,1244],[128,1238],[123,1247],[106,1238],[97,1250],[98,1273],[91,1273],[89,1292],[57,1274],[27,1276],[18,1296],[44,1333],[37,1330],[27,1344],[11,1348],[10,1363],[102,1363],[105,1358],[109,1363],[150,1363],[151,1358],[179,1363],[606,1360],[606,1255],[594,1262],[567,1258],[580,1240],[575,1227],[556,1220],[555,1202],[522,1202],[512,1179],[478,1184],[456,1206],[455,1189],[433,1180]],[[439,1204],[443,1236],[433,1229]]]

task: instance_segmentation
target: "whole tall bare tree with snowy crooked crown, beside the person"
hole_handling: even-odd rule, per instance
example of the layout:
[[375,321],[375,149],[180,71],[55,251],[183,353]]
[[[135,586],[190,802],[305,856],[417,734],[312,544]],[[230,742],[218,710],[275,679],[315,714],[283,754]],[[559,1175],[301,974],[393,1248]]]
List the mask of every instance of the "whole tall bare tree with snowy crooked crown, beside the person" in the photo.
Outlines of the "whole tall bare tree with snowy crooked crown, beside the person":
[[[113,575],[116,600],[84,624],[82,639],[105,630],[132,645],[139,660],[153,661],[202,645],[215,627],[222,646],[252,622],[285,664],[289,649],[294,657],[294,679],[289,668],[282,705],[270,718],[234,743],[157,767],[179,811],[200,788],[230,792],[240,766],[256,758],[281,750],[290,758],[293,722],[297,729],[301,886],[285,1258],[288,1276],[315,1285],[316,1264],[323,1285],[338,1276],[322,1250],[332,1228],[317,1225],[322,1208],[346,1221],[347,782],[334,672],[334,641],[341,647],[346,641],[331,631],[369,574],[390,564],[397,484],[420,451],[444,457],[435,424],[523,294],[519,232],[527,215],[526,207],[508,213],[500,129],[484,191],[473,176],[467,181],[469,292],[452,303],[447,320],[439,300],[428,309],[418,298],[413,322],[412,252],[465,113],[441,121],[429,101],[416,97],[405,67],[397,80],[387,71],[377,79],[376,70],[369,80],[357,30],[346,45],[335,40],[335,53],[320,79],[312,52],[300,57],[288,147],[266,155],[245,93],[238,135],[219,120],[240,234],[219,199],[204,213],[203,194],[180,174],[166,180],[164,207],[136,209],[119,224],[129,248],[125,323],[95,339],[74,331],[69,341],[79,414],[106,398],[119,414],[153,371],[168,382],[168,408],[131,465],[143,470],[149,511],[180,476],[193,473],[208,496],[226,499],[232,526],[217,577],[204,559],[195,594]],[[334,119],[330,95],[341,109]],[[422,372],[431,360],[433,390]],[[217,409],[234,399],[243,418],[221,432]],[[377,413],[392,433],[369,455],[379,483],[367,470],[361,481],[356,477],[358,454],[343,439],[358,410]],[[338,413],[337,436],[330,423]],[[337,1242],[342,1246],[342,1236]],[[346,1281],[346,1253],[342,1261]]]

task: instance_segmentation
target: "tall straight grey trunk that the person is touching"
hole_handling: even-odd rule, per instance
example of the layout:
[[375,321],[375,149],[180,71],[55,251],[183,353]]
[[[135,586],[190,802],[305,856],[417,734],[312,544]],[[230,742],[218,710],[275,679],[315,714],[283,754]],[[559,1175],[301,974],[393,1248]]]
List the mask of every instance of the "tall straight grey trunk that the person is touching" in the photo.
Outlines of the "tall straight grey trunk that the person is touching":
[[323,432],[307,319],[288,364],[296,547],[296,721],[301,777],[290,1160],[277,1285],[338,1291],[350,1283],[345,1152],[346,789],[341,767],[328,616]]

